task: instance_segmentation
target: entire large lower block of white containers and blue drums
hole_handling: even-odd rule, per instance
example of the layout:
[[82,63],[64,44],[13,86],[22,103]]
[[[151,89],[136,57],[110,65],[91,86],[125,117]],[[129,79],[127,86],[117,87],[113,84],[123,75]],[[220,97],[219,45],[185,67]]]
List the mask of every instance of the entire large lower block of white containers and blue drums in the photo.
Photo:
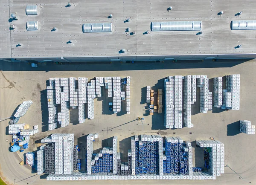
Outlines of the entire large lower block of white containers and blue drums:
[[122,162],[121,153],[117,152],[117,136],[113,137],[112,147],[93,153],[93,142],[98,137],[98,133],[87,136],[86,162],[82,164],[86,165],[86,172],[73,168],[74,163],[81,165],[81,159],[73,156],[74,134],[56,133],[42,139],[42,143],[49,144],[38,151],[38,174],[49,174],[47,180],[203,180],[216,179],[224,173],[224,144],[219,141],[196,141],[198,147],[204,148],[205,169],[202,169],[193,167],[191,142],[184,142],[180,137],[133,136],[128,162]]

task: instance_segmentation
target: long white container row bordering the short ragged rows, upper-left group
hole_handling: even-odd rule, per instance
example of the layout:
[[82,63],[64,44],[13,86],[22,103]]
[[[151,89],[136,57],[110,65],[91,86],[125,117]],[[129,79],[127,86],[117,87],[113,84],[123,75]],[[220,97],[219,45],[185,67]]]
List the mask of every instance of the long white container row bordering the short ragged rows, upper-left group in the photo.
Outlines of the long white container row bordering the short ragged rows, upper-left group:
[[89,119],[94,119],[94,98],[95,98],[95,84],[92,83],[93,80],[91,80],[91,83],[88,83],[87,86],[87,114]]

